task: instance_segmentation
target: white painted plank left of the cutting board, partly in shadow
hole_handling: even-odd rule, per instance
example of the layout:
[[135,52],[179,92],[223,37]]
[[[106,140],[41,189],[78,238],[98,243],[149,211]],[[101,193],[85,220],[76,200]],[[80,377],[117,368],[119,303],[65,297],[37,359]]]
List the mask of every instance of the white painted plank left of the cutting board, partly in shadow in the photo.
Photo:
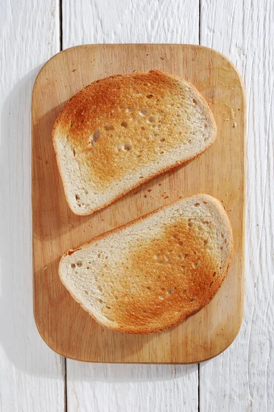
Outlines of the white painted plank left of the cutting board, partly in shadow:
[[64,361],[32,310],[32,86],[59,49],[57,1],[0,2],[0,411],[64,411]]

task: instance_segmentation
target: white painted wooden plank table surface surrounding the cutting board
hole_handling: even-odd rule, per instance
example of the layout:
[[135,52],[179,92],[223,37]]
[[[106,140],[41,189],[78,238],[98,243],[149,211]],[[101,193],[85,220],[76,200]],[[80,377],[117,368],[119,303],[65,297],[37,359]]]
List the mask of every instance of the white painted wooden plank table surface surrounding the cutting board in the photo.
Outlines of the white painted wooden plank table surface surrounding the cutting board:
[[[274,1],[0,2],[0,411],[274,411]],[[201,365],[70,361],[32,314],[31,122],[34,79],[84,43],[193,43],[225,54],[247,92],[245,317]]]

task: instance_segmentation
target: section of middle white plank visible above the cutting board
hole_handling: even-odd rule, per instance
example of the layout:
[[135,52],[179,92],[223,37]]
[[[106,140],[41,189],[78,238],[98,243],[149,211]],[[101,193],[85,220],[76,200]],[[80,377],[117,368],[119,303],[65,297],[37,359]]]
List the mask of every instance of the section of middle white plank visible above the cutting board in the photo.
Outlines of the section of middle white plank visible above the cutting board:
[[199,43],[199,0],[66,0],[63,47],[87,43]]

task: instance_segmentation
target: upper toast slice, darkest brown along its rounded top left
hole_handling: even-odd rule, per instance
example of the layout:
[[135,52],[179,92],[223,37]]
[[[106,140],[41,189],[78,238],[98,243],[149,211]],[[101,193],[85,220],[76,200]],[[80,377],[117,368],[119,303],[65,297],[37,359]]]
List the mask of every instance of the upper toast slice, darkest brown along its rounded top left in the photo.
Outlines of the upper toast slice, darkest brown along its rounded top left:
[[149,71],[105,78],[79,91],[52,136],[69,206],[88,215],[195,159],[213,143],[216,124],[195,87]]

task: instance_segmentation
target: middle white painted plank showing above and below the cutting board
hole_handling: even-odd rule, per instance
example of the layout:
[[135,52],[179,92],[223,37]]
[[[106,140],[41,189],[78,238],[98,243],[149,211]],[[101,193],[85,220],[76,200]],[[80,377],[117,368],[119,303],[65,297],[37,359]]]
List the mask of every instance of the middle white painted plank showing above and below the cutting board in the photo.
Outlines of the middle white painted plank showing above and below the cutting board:
[[[69,0],[63,47],[199,43],[199,0]],[[197,365],[92,365],[67,360],[68,411],[196,412]]]

